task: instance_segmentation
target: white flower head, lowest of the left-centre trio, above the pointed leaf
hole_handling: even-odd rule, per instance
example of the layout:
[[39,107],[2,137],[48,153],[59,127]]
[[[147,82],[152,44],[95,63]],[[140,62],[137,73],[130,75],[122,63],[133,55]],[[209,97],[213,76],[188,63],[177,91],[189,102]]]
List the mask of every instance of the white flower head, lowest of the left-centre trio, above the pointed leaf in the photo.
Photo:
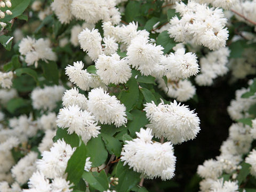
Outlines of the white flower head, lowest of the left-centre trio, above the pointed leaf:
[[60,109],[57,116],[57,125],[62,129],[68,128],[68,133],[76,133],[82,136],[86,143],[91,137],[97,137],[100,133],[100,126],[95,123],[94,116],[91,112],[81,110],[76,105]]

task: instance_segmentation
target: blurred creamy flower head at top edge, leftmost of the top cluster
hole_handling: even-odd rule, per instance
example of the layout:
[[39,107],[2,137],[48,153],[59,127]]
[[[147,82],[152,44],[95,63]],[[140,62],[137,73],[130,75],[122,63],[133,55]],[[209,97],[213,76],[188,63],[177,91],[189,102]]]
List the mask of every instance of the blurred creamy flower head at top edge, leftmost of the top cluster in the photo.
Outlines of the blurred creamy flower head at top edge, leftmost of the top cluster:
[[69,23],[73,19],[70,9],[70,4],[72,2],[73,0],[54,0],[51,4],[52,10],[62,24]]

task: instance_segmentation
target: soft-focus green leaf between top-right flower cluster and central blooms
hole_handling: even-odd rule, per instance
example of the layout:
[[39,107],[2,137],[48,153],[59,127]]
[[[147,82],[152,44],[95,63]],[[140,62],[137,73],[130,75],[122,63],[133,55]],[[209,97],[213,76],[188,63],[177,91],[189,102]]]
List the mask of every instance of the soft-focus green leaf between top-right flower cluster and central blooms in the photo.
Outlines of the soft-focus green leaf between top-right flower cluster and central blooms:
[[162,45],[162,47],[164,47],[164,54],[170,52],[172,50],[172,47],[176,45],[174,39],[169,37],[169,34],[166,30],[158,35],[156,39],[156,44]]

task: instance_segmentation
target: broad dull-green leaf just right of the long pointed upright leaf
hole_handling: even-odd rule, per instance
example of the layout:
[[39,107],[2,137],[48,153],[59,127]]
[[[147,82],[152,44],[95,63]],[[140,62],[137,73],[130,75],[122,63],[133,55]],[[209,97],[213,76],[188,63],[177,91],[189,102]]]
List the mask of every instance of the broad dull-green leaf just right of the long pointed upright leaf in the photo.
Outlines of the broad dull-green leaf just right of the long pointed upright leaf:
[[105,148],[101,135],[98,135],[97,138],[90,139],[86,144],[86,149],[88,151],[87,155],[91,157],[90,161],[93,167],[100,166],[106,162],[108,151]]

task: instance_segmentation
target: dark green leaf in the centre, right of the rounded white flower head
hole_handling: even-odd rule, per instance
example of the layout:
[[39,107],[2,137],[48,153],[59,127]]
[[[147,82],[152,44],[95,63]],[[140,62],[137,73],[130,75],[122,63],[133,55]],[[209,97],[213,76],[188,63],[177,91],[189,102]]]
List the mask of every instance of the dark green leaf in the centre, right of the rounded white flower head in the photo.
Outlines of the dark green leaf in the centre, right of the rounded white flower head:
[[121,91],[119,100],[125,105],[126,111],[130,111],[139,99],[139,87],[134,77],[131,77],[129,81],[127,81],[126,86],[129,87],[129,90]]

